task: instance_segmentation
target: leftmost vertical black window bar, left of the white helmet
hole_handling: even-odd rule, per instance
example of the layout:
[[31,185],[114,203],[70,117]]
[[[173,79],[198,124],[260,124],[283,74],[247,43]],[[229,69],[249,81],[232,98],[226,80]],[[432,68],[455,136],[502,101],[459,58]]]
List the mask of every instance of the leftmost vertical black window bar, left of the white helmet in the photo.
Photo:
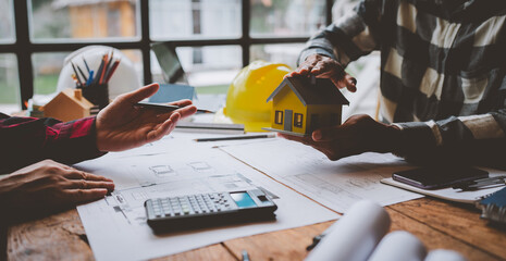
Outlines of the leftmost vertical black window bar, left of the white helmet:
[[[27,1],[12,1],[14,4],[14,25],[16,33],[15,53],[17,57],[17,74],[20,78],[21,105],[34,96],[34,72],[32,66],[32,46],[29,42],[28,4]],[[23,77],[21,76],[23,75]]]

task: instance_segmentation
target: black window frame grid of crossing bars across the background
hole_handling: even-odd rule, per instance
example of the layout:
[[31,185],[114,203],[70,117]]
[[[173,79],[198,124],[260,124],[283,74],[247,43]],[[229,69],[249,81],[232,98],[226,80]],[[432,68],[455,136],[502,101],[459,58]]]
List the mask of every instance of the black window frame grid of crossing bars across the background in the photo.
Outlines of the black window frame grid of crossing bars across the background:
[[[325,22],[326,25],[332,23],[332,4],[334,0],[325,1]],[[306,42],[309,37],[259,37],[250,36],[250,16],[251,5],[249,0],[242,0],[242,36],[230,39],[192,39],[192,40],[171,40],[174,47],[205,47],[205,46],[240,46],[243,66],[249,64],[250,47],[254,45],[270,44],[300,44]],[[118,49],[136,49],[143,54],[143,75],[144,84],[152,82],[151,75],[151,44],[157,42],[149,37],[149,0],[139,0],[140,14],[140,38],[128,39],[125,41],[67,41],[67,42],[32,42],[29,20],[28,20],[28,0],[13,1],[14,8],[14,33],[15,42],[0,44],[0,53],[14,53],[17,58],[17,72],[20,78],[20,97],[21,105],[27,109],[27,101],[34,96],[34,71],[32,64],[32,54],[36,52],[59,52],[75,51],[79,48],[90,45],[104,45]],[[23,77],[21,76],[23,74]]]

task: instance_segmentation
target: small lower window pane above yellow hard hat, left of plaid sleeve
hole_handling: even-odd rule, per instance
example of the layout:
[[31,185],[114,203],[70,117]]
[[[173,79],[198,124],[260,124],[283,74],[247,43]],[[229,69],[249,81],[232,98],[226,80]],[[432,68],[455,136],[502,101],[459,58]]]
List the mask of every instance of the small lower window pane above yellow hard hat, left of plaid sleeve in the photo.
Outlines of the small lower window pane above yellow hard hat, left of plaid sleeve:
[[251,46],[250,60],[284,63],[296,69],[297,59],[305,44],[279,44]]

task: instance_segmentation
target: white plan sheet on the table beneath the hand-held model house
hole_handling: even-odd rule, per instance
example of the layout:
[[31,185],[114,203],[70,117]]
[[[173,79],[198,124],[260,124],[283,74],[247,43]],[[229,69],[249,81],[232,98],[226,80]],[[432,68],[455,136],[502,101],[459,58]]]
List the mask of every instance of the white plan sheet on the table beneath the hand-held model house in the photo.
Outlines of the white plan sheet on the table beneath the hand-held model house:
[[330,161],[311,147],[281,138],[221,149],[340,213],[362,199],[388,206],[423,197],[380,183],[393,172],[409,167],[390,153]]

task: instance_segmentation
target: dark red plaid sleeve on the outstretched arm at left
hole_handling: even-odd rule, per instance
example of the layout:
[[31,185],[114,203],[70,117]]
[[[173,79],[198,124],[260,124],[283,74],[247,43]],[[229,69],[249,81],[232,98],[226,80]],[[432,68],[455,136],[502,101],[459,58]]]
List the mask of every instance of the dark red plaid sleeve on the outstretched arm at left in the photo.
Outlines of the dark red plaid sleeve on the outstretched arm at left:
[[45,159],[72,164],[103,154],[97,149],[95,117],[62,123],[0,113],[0,174]]

